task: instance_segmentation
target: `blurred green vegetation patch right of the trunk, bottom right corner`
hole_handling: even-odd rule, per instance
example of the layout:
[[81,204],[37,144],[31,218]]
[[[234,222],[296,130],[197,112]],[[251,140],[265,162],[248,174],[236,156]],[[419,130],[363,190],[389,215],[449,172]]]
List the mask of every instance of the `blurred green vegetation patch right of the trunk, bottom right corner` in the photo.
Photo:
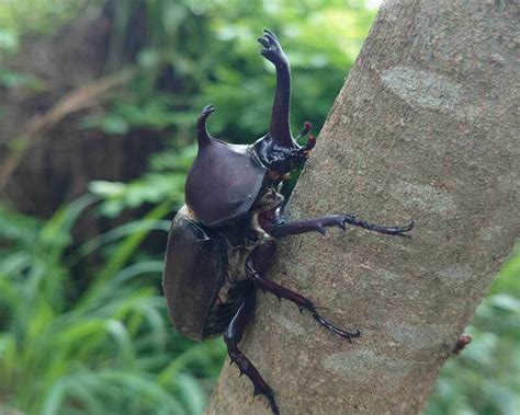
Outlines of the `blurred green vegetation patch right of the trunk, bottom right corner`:
[[427,415],[518,414],[520,252],[504,266],[466,333],[473,342],[441,370]]

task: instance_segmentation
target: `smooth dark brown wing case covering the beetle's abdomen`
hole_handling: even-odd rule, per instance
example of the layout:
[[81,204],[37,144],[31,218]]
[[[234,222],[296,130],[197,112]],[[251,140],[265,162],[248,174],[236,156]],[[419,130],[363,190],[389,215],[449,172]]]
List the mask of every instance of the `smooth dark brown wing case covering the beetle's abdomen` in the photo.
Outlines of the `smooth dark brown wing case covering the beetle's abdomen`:
[[177,214],[168,237],[162,288],[176,328],[202,341],[226,272],[226,253],[186,206]]

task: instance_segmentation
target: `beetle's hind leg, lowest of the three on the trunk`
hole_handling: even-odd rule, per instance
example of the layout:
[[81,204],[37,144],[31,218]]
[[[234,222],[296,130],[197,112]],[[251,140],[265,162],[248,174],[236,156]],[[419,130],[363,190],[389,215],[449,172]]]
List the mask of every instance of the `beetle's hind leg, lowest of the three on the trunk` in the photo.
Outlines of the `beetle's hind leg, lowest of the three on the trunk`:
[[276,402],[274,401],[274,393],[269,384],[263,380],[257,368],[251,361],[240,351],[238,343],[240,343],[244,332],[246,331],[247,323],[255,313],[256,297],[255,290],[246,297],[237,313],[233,318],[231,322],[224,332],[224,341],[227,345],[227,354],[231,359],[231,362],[237,364],[240,370],[240,376],[246,374],[252,382],[255,388],[253,395],[264,395],[269,400],[271,411],[274,415],[279,415]]

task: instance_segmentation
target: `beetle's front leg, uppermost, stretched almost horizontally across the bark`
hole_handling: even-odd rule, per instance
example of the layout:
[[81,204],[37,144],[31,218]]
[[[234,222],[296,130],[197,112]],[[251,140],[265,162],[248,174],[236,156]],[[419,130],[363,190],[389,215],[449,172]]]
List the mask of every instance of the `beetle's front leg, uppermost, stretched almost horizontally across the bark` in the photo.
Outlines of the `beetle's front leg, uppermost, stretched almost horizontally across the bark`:
[[325,234],[325,228],[338,227],[344,230],[347,224],[380,233],[410,238],[406,233],[414,228],[412,221],[405,227],[382,227],[381,224],[358,219],[353,215],[329,215],[319,218],[291,221],[284,221],[281,217],[271,217],[263,219],[261,223],[265,232],[274,238],[284,238],[307,232],[320,232]]

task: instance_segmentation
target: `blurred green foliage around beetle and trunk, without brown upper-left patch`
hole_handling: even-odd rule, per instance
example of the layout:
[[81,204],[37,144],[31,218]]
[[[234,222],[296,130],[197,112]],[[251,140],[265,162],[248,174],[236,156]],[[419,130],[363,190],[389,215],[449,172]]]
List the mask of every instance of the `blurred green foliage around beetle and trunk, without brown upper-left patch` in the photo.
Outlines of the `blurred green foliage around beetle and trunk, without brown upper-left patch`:
[[[44,91],[41,80],[2,62],[22,53],[27,35],[52,35],[86,4],[91,12],[104,3],[1,3],[0,92]],[[225,347],[173,331],[160,292],[162,253],[144,243],[165,237],[165,218],[182,204],[194,119],[213,103],[215,136],[251,142],[265,132],[274,77],[251,45],[269,27],[291,57],[293,129],[310,120],[319,130],[375,13],[361,0],[110,4],[106,73],[131,67],[136,76],[78,128],[121,137],[151,130],[165,137],[166,149],[140,177],[92,182],[83,197],[45,220],[0,205],[0,413],[2,405],[45,415],[203,413]],[[148,32],[128,49],[136,13]],[[72,232],[80,217],[122,224],[84,242]],[[517,254],[467,330],[473,343],[442,370],[426,414],[518,411],[519,276]]]

